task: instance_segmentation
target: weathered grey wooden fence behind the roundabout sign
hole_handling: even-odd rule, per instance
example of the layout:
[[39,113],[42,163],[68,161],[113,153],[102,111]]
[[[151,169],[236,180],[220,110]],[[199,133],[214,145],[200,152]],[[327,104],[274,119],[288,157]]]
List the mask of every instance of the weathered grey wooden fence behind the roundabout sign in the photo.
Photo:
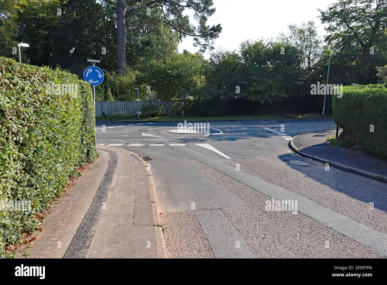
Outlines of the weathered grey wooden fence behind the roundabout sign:
[[151,104],[155,108],[164,105],[164,115],[171,115],[172,101],[103,101],[96,102],[96,117],[136,116],[137,105],[141,111],[142,106]]

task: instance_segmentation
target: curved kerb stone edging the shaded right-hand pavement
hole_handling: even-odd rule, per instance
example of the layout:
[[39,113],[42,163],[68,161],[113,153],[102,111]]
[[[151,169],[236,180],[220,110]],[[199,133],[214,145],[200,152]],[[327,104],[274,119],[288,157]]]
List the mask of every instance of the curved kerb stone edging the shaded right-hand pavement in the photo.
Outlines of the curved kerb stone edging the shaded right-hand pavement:
[[[315,133],[315,131],[308,132],[308,133]],[[303,133],[301,135],[305,135],[305,134],[307,134],[307,133]],[[300,136],[300,135],[297,135],[297,136]],[[314,160],[322,162],[324,164],[328,163],[330,166],[332,166],[334,168],[338,168],[338,169],[341,169],[341,170],[344,170],[344,171],[347,171],[347,172],[351,172],[351,173],[354,173],[354,174],[358,174],[358,175],[361,175],[361,176],[365,176],[365,177],[368,177],[368,178],[372,178],[372,179],[375,179],[375,180],[387,183],[387,176],[376,174],[376,173],[371,173],[371,172],[360,170],[360,169],[353,168],[353,167],[351,168],[351,167],[343,165],[343,164],[339,164],[339,163],[336,163],[336,162],[328,161],[326,159],[322,159],[320,157],[313,156],[313,155],[307,154],[305,152],[302,152],[294,144],[294,139],[297,136],[293,136],[293,138],[289,142],[289,148],[293,149],[297,154],[299,154],[299,155],[301,155],[303,157],[308,157],[308,158],[314,159]]]

